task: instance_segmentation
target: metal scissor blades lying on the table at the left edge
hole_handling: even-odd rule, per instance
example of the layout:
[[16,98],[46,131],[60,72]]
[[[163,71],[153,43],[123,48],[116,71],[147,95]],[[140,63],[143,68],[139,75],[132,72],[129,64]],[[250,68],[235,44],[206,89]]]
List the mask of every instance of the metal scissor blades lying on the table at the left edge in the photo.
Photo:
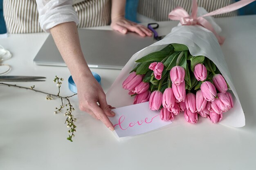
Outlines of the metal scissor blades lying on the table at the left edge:
[[9,81],[9,82],[28,82],[28,81],[45,81],[38,80],[46,77],[39,76],[0,76],[0,81]]

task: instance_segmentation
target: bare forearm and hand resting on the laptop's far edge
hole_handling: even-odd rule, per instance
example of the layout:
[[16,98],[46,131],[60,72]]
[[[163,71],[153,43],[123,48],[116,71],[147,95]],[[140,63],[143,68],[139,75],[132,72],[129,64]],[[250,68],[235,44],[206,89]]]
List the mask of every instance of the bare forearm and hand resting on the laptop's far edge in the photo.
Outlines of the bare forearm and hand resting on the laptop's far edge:
[[124,18],[125,5],[126,0],[112,0],[111,28],[123,34],[126,34],[127,31],[131,31],[143,37],[152,36],[152,32],[148,28]]

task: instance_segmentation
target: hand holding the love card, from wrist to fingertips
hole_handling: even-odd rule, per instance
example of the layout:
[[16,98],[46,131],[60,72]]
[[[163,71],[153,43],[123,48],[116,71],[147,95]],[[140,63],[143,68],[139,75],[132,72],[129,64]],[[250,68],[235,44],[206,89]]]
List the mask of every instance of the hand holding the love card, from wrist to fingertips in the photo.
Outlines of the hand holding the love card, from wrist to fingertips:
[[115,116],[115,113],[111,110],[114,107],[107,104],[106,94],[96,79],[93,76],[82,78],[76,83],[76,86],[79,109],[90,114],[95,119],[99,119],[113,131],[114,126],[108,119],[108,116]]

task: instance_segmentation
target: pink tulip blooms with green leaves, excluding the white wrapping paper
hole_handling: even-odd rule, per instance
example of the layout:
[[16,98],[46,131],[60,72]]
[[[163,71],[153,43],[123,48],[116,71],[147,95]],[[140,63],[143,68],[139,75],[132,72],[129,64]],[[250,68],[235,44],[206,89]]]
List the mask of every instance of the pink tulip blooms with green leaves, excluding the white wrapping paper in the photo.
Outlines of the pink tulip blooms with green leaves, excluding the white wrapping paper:
[[188,123],[198,114],[218,123],[233,106],[229,86],[216,65],[205,56],[193,56],[186,45],[169,44],[138,60],[122,87],[135,96],[133,104],[149,101],[163,121],[184,112]]

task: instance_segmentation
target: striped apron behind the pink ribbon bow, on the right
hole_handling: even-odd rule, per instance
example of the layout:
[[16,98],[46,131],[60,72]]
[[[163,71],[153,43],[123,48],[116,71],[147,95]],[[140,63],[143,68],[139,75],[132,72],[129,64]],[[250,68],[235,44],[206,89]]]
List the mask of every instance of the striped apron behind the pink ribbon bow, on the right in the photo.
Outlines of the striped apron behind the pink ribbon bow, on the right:
[[[198,7],[204,7],[208,12],[214,11],[233,3],[233,0],[197,0]],[[168,14],[176,7],[182,7],[191,11],[192,0],[139,0],[138,13],[156,21],[169,20]],[[237,11],[223,13],[214,16],[230,17],[236,16]]]

